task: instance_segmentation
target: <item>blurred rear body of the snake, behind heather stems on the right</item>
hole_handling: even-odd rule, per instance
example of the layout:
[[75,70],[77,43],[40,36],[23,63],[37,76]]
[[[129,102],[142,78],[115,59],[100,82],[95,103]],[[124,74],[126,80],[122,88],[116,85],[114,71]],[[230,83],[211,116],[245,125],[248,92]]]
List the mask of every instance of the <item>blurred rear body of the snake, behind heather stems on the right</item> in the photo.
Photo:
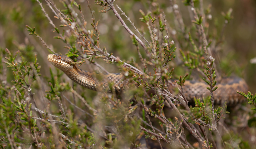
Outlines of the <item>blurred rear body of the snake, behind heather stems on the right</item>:
[[[243,91],[244,93],[248,91],[247,83],[245,83],[244,79],[237,76],[223,78],[215,86],[218,86],[218,89],[213,92],[214,104],[218,105],[223,105],[224,102],[227,102],[228,105],[237,105],[245,100],[245,97],[238,94],[237,91]],[[209,85],[205,82],[186,80],[183,91],[185,97],[191,101],[194,97],[196,99],[203,99],[210,96],[210,91],[207,87]]]

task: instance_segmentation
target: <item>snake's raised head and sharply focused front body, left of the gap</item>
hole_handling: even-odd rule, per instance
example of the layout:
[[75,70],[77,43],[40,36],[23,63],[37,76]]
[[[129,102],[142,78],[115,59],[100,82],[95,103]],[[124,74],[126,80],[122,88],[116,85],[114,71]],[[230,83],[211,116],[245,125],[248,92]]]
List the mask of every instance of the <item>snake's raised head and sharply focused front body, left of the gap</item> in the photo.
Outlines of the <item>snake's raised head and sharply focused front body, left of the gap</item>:
[[112,93],[110,84],[114,86],[116,93],[121,93],[127,84],[127,80],[124,80],[124,76],[119,73],[109,74],[96,74],[88,71],[81,70],[73,65],[73,60],[65,55],[48,54],[48,61],[52,63],[56,68],[62,70],[68,78],[81,86],[95,90],[95,91],[107,91]]

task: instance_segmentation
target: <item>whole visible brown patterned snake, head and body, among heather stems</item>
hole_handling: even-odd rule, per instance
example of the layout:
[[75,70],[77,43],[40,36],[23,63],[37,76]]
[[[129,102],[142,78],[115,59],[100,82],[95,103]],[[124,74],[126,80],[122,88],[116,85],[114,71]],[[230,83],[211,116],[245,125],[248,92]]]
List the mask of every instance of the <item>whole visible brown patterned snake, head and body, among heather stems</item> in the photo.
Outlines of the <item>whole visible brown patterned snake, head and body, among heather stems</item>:
[[[62,70],[75,83],[91,90],[99,91],[103,89],[111,93],[109,88],[109,83],[111,82],[114,84],[115,92],[120,93],[127,84],[127,80],[124,79],[122,74],[96,74],[83,71],[77,68],[76,65],[71,64],[73,60],[64,55],[49,54],[48,61]],[[225,78],[220,83],[217,83],[216,86],[218,86],[218,89],[214,91],[214,102],[216,104],[223,104],[225,101],[229,105],[238,104],[244,101],[245,98],[236,91],[248,91],[248,86],[244,79],[238,77]],[[183,91],[187,99],[192,101],[194,97],[198,99],[209,96],[210,92],[206,87],[208,87],[206,83],[187,80]],[[169,90],[171,91],[172,89]]]

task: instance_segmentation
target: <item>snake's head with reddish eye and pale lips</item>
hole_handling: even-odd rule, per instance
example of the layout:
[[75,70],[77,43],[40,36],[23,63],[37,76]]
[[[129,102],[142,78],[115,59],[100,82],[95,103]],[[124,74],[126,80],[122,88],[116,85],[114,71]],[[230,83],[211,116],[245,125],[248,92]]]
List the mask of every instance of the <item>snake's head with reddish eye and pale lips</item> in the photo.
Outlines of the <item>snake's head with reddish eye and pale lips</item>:
[[71,64],[73,60],[68,58],[68,56],[60,54],[48,54],[47,59],[52,65],[56,66],[58,69],[70,69],[73,68]]

